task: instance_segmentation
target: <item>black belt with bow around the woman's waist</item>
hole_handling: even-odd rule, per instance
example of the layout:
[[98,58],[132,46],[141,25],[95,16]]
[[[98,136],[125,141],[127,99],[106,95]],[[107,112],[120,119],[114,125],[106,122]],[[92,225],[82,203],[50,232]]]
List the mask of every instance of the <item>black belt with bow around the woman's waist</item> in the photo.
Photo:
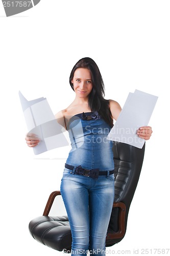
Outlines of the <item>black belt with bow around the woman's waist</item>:
[[[75,166],[71,166],[71,165],[65,163],[65,168],[67,168],[69,170],[73,170],[75,168]],[[99,172],[99,169],[88,170],[88,169],[82,168],[81,165],[76,167],[76,172],[75,173],[78,174],[78,175],[83,175],[83,176],[91,177],[91,178],[98,178],[99,175],[101,176],[101,175],[107,175],[108,174],[107,170],[100,171],[100,172]],[[109,170],[109,175],[111,175],[113,173],[114,173],[114,170]]]

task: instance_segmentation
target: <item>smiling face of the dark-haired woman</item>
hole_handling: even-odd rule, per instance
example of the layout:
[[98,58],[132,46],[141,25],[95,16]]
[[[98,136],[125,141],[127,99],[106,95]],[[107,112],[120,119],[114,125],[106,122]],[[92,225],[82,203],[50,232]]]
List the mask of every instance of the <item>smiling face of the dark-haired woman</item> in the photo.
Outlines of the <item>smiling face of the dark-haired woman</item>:
[[92,80],[90,70],[84,68],[76,69],[71,82],[74,85],[76,96],[87,98],[92,90]]

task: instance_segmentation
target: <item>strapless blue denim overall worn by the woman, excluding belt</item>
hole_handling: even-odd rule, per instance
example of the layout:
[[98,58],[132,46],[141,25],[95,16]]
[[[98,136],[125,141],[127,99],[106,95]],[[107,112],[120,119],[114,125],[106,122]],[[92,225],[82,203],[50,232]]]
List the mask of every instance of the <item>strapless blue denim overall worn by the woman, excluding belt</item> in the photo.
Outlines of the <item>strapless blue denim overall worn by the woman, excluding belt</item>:
[[[61,195],[71,234],[71,255],[105,255],[105,241],[114,200],[113,142],[107,140],[111,127],[97,112],[73,116],[68,124],[71,141],[61,181]],[[97,179],[76,174],[76,167],[99,168]]]

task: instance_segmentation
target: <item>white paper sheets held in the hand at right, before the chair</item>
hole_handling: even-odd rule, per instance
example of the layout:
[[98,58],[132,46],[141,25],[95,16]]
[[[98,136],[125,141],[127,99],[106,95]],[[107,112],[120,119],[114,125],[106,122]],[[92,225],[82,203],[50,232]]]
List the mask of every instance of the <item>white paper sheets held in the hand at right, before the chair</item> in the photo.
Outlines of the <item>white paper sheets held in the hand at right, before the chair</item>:
[[157,96],[138,90],[129,93],[107,139],[142,148],[145,140],[139,138],[136,131],[139,127],[148,125],[157,99]]

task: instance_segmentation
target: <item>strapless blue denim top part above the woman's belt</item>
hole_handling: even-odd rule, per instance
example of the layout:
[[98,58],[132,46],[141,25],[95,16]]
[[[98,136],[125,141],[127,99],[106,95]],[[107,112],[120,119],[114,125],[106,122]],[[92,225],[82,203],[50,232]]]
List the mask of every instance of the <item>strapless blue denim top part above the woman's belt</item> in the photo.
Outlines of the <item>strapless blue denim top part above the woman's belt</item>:
[[71,150],[66,163],[85,169],[113,170],[113,141],[107,140],[111,127],[98,112],[72,116],[68,123]]

